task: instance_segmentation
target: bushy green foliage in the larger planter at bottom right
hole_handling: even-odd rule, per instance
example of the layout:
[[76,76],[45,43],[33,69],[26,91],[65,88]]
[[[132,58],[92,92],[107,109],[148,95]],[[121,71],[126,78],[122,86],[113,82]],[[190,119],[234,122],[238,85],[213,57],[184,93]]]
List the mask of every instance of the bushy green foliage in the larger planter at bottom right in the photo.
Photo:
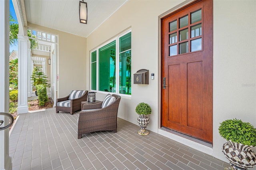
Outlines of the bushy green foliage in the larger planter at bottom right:
[[220,136],[226,140],[256,146],[256,129],[248,122],[228,119],[220,123],[218,130]]

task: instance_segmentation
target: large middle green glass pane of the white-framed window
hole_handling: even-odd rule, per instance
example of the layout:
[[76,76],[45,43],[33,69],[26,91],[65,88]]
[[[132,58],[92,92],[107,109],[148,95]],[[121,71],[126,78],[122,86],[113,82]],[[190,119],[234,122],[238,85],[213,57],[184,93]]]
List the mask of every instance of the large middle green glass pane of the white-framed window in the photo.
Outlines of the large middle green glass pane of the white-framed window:
[[99,49],[99,91],[115,92],[116,41]]

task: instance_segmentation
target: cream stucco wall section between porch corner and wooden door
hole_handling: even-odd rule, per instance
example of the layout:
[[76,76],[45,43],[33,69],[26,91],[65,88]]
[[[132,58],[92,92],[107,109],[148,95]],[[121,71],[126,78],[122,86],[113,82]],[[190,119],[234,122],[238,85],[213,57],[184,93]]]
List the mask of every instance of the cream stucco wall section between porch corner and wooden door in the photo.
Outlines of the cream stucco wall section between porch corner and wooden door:
[[[154,132],[159,127],[158,16],[181,2],[128,1],[87,38],[87,77],[90,77],[89,51],[124,30],[132,29],[132,74],[139,69],[148,69],[149,75],[154,73],[155,77],[154,80],[149,79],[149,85],[136,85],[133,84],[132,75],[132,97],[122,97],[118,117],[137,124],[136,105],[140,102],[148,103],[152,107],[152,114],[147,128]],[[89,87],[90,81],[87,82],[87,88]],[[103,100],[105,96],[104,93],[96,93],[99,100]]]

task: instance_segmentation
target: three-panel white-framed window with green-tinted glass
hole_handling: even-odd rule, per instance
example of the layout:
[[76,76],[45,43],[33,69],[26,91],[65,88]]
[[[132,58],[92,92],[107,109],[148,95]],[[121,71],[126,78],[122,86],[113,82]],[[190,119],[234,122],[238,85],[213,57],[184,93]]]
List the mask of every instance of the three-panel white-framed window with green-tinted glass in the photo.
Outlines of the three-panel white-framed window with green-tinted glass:
[[91,54],[91,90],[131,95],[131,30]]

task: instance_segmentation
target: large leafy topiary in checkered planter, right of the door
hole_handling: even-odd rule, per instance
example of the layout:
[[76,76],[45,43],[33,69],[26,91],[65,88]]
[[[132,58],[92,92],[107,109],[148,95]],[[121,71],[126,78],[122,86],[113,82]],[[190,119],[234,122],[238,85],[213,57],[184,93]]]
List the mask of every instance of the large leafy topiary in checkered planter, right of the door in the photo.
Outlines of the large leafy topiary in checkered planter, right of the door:
[[223,145],[222,152],[232,168],[252,168],[256,164],[256,156],[251,150],[256,146],[256,129],[240,119],[228,119],[220,123],[218,130],[220,136],[228,141]]

